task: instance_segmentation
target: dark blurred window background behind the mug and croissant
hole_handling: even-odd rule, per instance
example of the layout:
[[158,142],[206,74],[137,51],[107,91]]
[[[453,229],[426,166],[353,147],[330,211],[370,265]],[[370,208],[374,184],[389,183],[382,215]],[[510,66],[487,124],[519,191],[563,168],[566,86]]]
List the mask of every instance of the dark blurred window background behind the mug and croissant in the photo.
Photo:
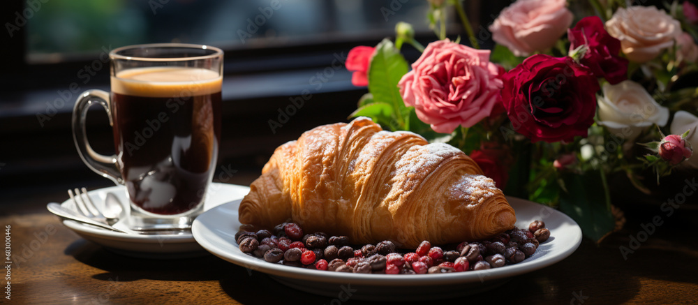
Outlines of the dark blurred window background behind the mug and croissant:
[[[484,29],[509,3],[465,2],[485,47],[491,40]],[[366,93],[352,86],[341,66],[352,47],[394,38],[399,21],[413,24],[425,45],[434,40],[426,21],[429,5],[426,0],[3,1],[0,202],[27,203],[29,193],[37,203],[38,193],[45,193],[43,209],[45,202],[66,199],[55,194],[67,188],[110,186],[80,160],[70,119],[80,92],[109,89],[107,53],[116,47],[197,43],[225,50],[217,170],[237,171],[223,182],[249,184],[280,144],[320,124],[347,121]],[[449,37],[463,36],[458,18],[448,20]],[[419,57],[408,45],[403,54],[408,61]],[[290,98],[303,98],[302,106]],[[281,126],[273,128],[271,121]],[[101,107],[91,109],[87,131],[96,151],[114,153]]]

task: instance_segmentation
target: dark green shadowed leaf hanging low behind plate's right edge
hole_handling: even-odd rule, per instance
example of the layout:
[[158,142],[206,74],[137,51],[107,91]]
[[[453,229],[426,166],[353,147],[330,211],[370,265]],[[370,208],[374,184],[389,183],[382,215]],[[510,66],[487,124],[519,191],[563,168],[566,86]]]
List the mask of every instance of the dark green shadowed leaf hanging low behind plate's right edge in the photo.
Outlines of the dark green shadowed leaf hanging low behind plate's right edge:
[[605,187],[600,172],[587,171],[583,175],[563,175],[568,192],[560,192],[560,211],[572,217],[584,236],[597,242],[616,224],[605,198]]

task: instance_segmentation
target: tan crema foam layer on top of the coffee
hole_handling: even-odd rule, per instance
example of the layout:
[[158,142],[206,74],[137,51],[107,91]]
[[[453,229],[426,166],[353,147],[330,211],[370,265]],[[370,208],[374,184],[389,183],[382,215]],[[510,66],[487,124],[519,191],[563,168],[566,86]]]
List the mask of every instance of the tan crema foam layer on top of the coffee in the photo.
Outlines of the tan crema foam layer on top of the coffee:
[[222,82],[216,71],[182,67],[134,68],[111,77],[112,92],[150,98],[214,94]]

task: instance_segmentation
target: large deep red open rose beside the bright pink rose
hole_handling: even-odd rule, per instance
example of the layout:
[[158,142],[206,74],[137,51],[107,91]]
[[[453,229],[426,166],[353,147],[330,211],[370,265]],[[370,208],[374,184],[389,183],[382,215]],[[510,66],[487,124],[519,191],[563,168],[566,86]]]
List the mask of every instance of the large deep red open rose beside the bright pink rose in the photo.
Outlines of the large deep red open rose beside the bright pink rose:
[[599,82],[571,57],[536,54],[503,75],[500,101],[531,141],[572,142],[594,123]]

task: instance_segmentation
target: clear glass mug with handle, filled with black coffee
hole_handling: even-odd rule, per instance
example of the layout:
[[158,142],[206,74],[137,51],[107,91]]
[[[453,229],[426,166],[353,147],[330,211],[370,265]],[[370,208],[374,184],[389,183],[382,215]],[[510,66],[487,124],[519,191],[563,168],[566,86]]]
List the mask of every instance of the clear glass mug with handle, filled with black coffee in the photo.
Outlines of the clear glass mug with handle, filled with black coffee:
[[[221,138],[223,51],[206,45],[120,47],[109,57],[111,94],[88,90],[73,109],[73,140],[94,172],[126,186],[133,230],[191,228],[202,213]],[[85,119],[104,107],[116,154],[96,153]]]

